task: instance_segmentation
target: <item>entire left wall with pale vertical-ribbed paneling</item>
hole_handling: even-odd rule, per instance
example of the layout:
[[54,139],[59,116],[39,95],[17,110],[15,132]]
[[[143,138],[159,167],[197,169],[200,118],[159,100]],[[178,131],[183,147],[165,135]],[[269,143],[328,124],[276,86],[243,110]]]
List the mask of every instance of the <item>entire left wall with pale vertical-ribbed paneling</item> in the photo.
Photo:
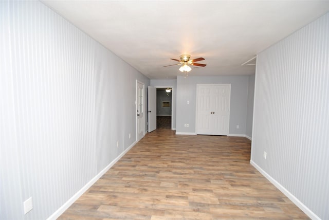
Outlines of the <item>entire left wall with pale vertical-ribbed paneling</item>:
[[0,18],[0,218],[46,219],[135,143],[150,80],[40,2]]

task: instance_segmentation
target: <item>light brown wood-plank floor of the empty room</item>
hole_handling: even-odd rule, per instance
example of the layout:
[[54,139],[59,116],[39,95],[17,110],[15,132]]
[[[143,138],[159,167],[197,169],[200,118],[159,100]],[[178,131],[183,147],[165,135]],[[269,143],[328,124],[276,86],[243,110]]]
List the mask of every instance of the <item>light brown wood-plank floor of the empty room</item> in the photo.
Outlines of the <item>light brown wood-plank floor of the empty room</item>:
[[308,219],[243,137],[145,135],[59,219]]

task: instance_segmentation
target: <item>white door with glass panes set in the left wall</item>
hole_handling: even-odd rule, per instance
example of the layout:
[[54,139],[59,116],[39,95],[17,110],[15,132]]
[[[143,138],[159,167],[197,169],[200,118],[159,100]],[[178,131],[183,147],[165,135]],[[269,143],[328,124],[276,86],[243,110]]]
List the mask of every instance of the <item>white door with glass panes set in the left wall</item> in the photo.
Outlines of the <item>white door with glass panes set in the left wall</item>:
[[144,84],[136,81],[136,137],[137,141],[144,137]]

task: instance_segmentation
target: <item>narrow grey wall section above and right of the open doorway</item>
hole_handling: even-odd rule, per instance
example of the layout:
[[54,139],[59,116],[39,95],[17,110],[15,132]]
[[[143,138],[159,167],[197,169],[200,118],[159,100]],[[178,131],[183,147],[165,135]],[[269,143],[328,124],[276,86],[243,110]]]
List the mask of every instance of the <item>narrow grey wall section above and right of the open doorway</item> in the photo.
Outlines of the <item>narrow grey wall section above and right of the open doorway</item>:
[[154,87],[171,87],[171,97],[172,97],[172,129],[176,130],[176,80],[151,80],[151,86]]

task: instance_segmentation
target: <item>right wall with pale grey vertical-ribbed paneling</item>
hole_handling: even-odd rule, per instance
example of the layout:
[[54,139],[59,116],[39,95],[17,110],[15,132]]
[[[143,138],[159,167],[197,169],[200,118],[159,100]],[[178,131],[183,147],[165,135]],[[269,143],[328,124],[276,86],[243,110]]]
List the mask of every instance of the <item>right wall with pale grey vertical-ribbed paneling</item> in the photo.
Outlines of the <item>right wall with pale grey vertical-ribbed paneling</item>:
[[327,13],[258,55],[251,155],[322,219],[329,218],[328,39]]

